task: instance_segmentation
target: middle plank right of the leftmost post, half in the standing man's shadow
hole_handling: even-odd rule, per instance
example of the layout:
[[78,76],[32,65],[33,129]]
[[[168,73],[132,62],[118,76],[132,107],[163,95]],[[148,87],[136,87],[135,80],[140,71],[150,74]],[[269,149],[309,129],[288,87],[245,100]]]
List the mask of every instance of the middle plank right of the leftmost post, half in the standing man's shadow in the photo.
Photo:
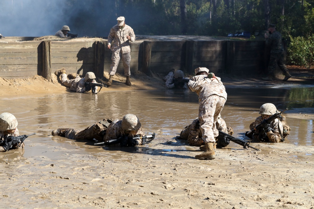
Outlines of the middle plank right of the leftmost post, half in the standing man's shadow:
[[94,51],[81,52],[54,52],[51,53],[51,63],[94,63]]

